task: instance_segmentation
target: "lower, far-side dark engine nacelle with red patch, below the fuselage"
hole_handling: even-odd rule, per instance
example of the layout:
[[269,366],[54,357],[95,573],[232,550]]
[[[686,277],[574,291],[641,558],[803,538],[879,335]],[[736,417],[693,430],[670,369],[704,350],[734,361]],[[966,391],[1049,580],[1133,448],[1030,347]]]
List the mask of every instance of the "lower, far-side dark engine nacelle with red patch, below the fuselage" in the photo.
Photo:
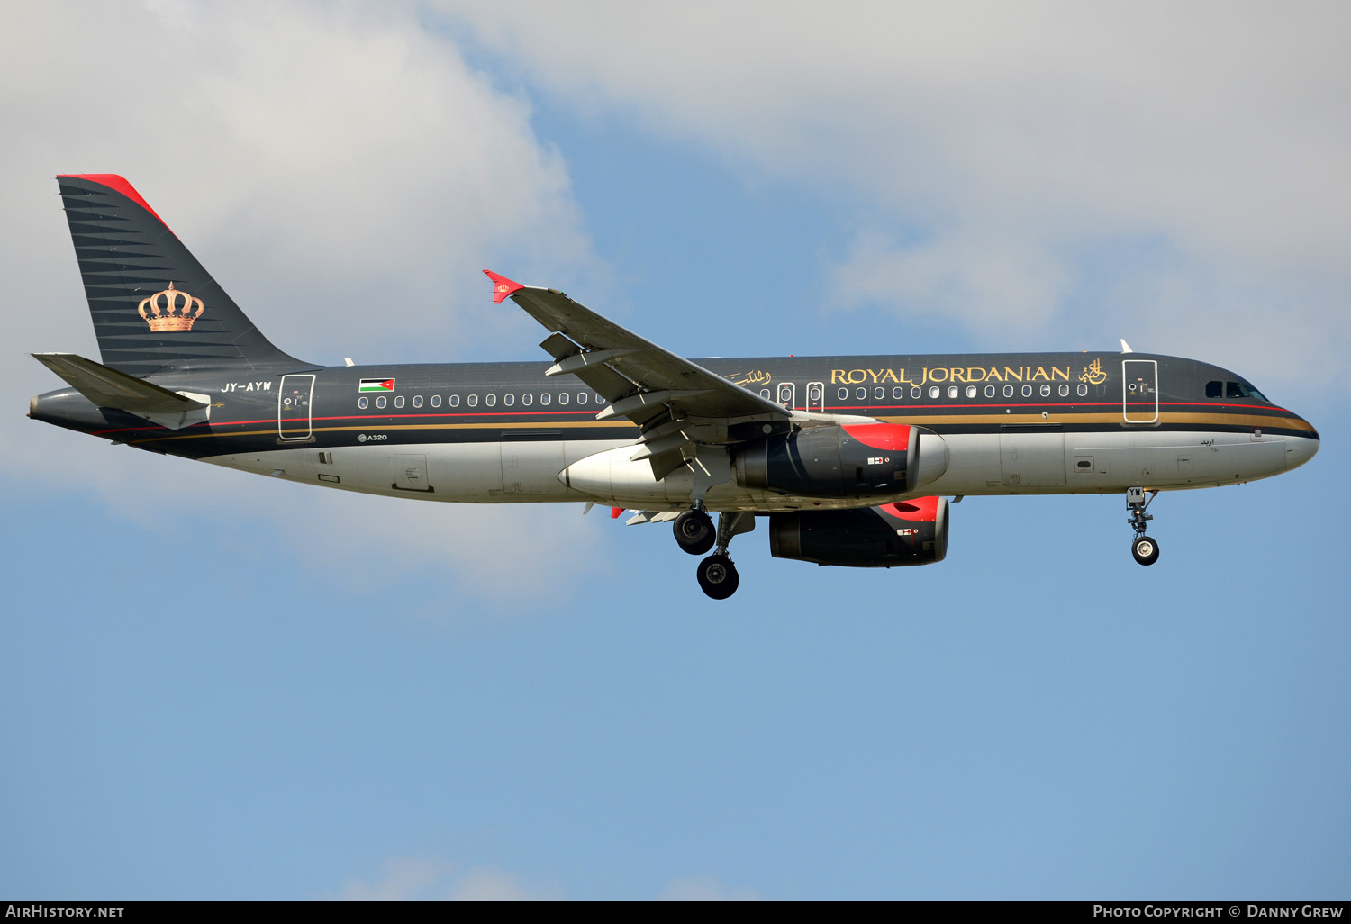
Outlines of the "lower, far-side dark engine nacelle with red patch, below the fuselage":
[[931,565],[947,557],[947,498],[917,497],[852,511],[771,513],[775,558],[846,567]]

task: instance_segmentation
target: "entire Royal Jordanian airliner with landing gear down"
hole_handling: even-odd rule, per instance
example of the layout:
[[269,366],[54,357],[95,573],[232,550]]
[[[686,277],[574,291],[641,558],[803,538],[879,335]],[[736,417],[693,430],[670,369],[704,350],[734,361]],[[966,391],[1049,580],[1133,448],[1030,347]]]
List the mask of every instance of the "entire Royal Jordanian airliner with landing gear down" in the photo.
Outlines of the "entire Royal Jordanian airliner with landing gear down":
[[[851,567],[947,555],[969,494],[1124,493],[1152,565],[1162,490],[1289,471],[1317,431],[1246,378],[1133,353],[693,362],[557,289],[484,270],[549,362],[324,366],[282,353],[116,174],[57,177],[101,362],[32,354],[69,388],[28,416],[113,443],[342,490],[566,503],[670,521],[715,600],[728,546]],[[715,525],[712,515],[717,515]]]

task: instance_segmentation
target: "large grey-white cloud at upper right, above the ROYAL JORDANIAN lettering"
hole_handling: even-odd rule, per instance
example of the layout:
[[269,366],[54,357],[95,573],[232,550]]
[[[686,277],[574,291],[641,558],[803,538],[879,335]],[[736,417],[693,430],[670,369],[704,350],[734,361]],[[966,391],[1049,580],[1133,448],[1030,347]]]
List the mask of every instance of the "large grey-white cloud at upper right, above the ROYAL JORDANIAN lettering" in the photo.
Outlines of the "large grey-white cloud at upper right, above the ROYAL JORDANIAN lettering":
[[[854,303],[939,311],[996,349],[1013,327],[1115,343],[1128,322],[1142,349],[1193,350],[1209,309],[1254,334],[1279,315],[1289,349],[1254,335],[1233,362],[1346,380],[1346,4],[442,8],[543,93],[839,200],[869,228],[836,267]],[[1119,304],[1147,297],[1140,250],[1167,255],[1167,289],[1227,301]]]

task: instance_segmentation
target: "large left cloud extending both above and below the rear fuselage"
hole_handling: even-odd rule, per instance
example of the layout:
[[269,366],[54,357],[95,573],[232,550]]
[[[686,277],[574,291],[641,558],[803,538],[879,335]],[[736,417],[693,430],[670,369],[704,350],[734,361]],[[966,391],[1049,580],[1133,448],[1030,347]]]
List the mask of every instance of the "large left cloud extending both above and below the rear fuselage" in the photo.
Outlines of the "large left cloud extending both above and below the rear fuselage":
[[[507,255],[519,262],[501,269],[527,280],[605,277],[566,166],[534,136],[528,104],[428,34],[411,5],[15,8],[0,31],[0,113],[11,305],[0,370],[28,393],[61,382],[27,351],[99,355],[57,173],[127,176],[270,339],[320,362],[543,361],[538,326],[494,309],[480,269]],[[96,444],[16,413],[0,416],[0,465],[28,490],[93,486],[162,530],[185,512],[263,535],[304,524],[312,561],[345,562],[354,584],[447,570],[508,607],[544,586],[566,593],[566,567],[600,536],[578,527],[576,504],[489,509],[307,492]],[[357,524],[396,551],[354,557]],[[565,525],[559,554],[553,535]],[[509,551],[532,555],[532,567],[521,573]]]

